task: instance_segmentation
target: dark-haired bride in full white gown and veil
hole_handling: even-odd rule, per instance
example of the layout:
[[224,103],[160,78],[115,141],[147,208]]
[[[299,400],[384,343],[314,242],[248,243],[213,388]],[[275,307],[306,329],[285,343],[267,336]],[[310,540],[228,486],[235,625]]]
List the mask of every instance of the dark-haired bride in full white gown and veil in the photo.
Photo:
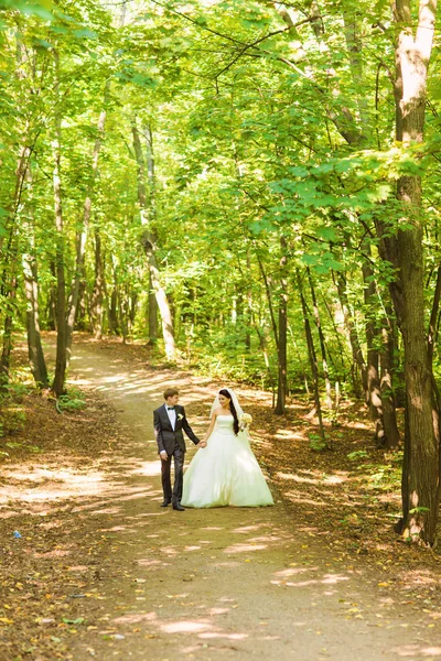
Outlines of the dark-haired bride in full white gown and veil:
[[260,507],[273,505],[271,492],[249,446],[244,412],[230,388],[219,390],[201,447],[184,475],[181,503],[186,507]]

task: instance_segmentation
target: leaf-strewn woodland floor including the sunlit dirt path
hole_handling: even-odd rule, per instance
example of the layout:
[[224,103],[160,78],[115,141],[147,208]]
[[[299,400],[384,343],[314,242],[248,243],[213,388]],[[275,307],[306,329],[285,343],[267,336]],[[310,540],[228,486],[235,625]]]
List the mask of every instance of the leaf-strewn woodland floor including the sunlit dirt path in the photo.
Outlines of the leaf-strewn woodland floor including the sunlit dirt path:
[[318,453],[304,404],[276,418],[237,386],[276,506],[175,512],[152,410],[179,386],[201,435],[219,383],[87,337],[69,382],[85,409],[26,395],[24,429],[0,440],[1,661],[441,659],[441,557],[394,534],[397,463],[363,409]]

